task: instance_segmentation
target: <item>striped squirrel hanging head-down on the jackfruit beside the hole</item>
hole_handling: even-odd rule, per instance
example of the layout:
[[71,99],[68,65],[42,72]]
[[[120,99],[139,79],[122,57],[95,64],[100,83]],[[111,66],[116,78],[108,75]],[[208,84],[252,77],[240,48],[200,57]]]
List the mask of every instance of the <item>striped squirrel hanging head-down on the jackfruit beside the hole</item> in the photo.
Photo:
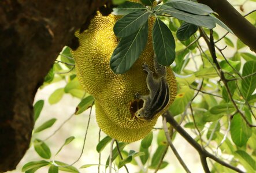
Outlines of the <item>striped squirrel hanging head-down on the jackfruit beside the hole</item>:
[[159,65],[155,55],[154,67],[157,78],[153,76],[153,72],[146,63],[142,67],[147,72],[146,82],[149,95],[143,96],[135,93],[135,98],[143,100],[143,107],[135,112],[135,116],[142,120],[152,120],[154,115],[168,106],[170,101],[169,85],[166,81],[166,67]]

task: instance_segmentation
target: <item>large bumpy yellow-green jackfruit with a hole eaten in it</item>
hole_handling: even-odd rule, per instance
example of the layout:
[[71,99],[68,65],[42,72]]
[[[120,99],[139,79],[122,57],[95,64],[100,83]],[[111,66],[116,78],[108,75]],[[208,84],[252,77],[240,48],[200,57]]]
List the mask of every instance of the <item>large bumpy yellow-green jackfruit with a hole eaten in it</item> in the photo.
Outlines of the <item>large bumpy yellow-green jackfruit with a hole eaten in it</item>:
[[[114,74],[110,69],[110,57],[118,43],[113,32],[118,18],[112,14],[102,16],[97,12],[88,29],[76,33],[80,46],[72,54],[80,84],[94,96],[99,127],[118,141],[133,142],[144,138],[153,129],[158,116],[167,108],[155,115],[152,121],[142,121],[135,117],[136,110],[143,104],[141,100],[135,99],[135,93],[149,94],[147,74],[142,70],[143,63],[154,72],[151,37],[153,20],[149,21],[148,43],[139,59],[125,74]],[[167,68],[166,79],[170,86],[171,104],[176,96],[177,84],[170,67]]]

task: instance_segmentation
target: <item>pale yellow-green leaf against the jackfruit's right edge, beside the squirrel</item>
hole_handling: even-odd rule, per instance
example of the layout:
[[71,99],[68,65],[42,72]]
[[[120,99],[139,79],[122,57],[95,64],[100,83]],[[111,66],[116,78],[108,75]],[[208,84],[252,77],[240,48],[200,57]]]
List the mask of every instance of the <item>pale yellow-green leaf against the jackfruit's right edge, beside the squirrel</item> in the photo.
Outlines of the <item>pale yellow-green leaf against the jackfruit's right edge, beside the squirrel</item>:
[[170,112],[172,112],[172,115],[178,115],[184,112],[185,107],[193,96],[194,91],[188,86],[183,86],[178,91],[175,101],[173,101],[172,105],[169,108]]

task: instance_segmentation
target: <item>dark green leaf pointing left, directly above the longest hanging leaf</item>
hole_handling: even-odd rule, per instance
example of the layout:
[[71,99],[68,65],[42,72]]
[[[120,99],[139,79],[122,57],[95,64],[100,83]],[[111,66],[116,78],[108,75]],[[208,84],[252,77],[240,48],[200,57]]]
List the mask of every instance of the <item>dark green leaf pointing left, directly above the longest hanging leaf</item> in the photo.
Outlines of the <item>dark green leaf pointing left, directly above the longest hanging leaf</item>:
[[150,14],[150,12],[136,11],[125,15],[114,24],[114,34],[117,37],[132,35],[146,24]]

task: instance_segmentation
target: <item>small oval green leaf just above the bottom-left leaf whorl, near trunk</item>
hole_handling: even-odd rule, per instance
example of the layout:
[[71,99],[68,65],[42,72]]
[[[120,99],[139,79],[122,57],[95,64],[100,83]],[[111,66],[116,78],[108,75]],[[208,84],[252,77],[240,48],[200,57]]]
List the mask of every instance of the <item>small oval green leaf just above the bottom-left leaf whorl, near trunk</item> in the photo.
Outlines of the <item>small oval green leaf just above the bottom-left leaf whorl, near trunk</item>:
[[44,159],[50,159],[51,151],[49,146],[46,145],[46,143],[39,139],[36,139],[34,140],[34,148],[40,157],[43,157]]

